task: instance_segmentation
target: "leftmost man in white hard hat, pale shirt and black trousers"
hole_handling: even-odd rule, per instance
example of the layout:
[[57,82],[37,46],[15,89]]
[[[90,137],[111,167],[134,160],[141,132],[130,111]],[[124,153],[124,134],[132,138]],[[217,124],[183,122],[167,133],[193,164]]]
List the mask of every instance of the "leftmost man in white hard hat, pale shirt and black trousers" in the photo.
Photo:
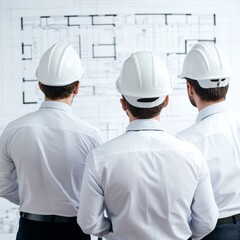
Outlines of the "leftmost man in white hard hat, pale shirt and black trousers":
[[86,155],[101,137],[71,111],[82,74],[71,46],[52,46],[36,74],[45,101],[2,133],[0,196],[19,204],[17,240],[90,239],[76,216]]

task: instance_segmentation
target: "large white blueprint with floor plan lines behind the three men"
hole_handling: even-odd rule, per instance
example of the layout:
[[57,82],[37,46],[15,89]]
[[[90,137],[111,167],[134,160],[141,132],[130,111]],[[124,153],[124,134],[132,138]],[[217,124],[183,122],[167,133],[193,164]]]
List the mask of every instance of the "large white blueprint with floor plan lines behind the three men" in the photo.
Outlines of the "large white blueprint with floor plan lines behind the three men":
[[[174,134],[195,120],[186,83],[176,76],[197,42],[226,50],[234,69],[228,100],[240,107],[240,84],[234,81],[240,75],[240,36],[234,31],[240,21],[238,1],[158,2],[0,0],[0,133],[8,122],[39,108],[44,96],[35,72],[42,54],[57,42],[71,44],[85,68],[73,111],[98,127],[105,141],[128,124],[115,82],[121,64],[135,51],[153,51],[169,69],[173,90],[161,115],[164,131]],[[15,239],[18,215],[17,206],[0,199],[1,239]]]

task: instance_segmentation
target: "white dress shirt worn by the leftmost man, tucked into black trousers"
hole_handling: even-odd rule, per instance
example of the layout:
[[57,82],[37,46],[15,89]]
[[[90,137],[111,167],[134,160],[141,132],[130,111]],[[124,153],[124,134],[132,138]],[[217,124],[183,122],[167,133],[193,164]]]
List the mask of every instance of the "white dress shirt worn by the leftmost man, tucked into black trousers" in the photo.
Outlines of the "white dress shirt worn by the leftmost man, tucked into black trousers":
[[69,105],[43,102],[1,135],[0,197],[23,212],[77,216],[86,156],[100,142]]

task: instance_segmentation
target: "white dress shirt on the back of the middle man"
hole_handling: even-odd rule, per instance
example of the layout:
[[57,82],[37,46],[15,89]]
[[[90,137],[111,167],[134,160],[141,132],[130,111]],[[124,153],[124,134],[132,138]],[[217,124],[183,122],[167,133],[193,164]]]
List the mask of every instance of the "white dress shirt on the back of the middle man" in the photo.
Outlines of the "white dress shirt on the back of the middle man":
[[[201,237],[216,223],[202,155],[161,131],[156,120],[132,122],[127,133],[93,150],[87,169],[79,211],[80,218],[89,220],[83,225],[80,220],[86,232],[107,228],[96,214],[103,201],[112,224],[107,236],[111,240]],[[95,205],[86,212],[93,204],[89,199]]]

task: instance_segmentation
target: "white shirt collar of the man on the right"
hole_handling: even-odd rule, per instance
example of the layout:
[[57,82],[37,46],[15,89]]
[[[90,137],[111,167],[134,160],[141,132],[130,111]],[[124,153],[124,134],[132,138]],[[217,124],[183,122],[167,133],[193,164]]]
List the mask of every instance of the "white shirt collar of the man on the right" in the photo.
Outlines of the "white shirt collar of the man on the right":
[[227,109],[228,109],[228,105],[225,101],[220,103],[215,103],[213,105],[205,107],[198,113],[196,122],[200,122],[213,114],[224,112]]

